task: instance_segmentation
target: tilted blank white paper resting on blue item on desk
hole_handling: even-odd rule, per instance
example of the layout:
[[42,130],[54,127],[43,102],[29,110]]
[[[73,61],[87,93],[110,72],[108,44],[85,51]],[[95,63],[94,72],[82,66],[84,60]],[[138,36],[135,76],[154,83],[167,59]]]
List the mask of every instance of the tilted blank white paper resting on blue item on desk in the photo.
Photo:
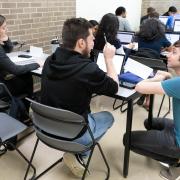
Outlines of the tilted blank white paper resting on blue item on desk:
[[147,79],[150,74],[153,72],[153,69],[141,64],[131,58],[128,58],[125,67],[124,67],[125,71],[129,71],[143,79]]

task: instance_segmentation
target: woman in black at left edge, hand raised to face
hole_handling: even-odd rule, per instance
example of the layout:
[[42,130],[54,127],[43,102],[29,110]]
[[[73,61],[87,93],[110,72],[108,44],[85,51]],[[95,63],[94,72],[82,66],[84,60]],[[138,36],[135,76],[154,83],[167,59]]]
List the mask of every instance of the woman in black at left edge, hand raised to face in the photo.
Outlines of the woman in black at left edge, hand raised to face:
[[[0,15],[0,81],[5,83],[13,96],[27,94],[29,98],[33,94],[33,80],[30,71],[39,67],[39,64],[29,65],[14,64],[6,53],[10,53],[13,45],[7,35],[6,18]],[[29,103],[23,101],[29,112]],[[29,117],[23,117],[26,120]]]

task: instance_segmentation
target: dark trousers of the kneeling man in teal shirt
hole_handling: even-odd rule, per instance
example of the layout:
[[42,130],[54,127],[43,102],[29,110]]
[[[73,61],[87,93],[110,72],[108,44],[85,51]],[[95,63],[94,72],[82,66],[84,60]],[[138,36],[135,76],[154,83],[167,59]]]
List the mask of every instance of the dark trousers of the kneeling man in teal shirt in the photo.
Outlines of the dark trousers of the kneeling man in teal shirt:
[[[147,131],[132,131],[131,150],[170,165],[177,164],[180,159],[180,147],[176,143],[173,121],[154,118],[152,129],[149,128],[147,120],[144,125]],[[123,138],[124,144],[125,141],[126,135]]]

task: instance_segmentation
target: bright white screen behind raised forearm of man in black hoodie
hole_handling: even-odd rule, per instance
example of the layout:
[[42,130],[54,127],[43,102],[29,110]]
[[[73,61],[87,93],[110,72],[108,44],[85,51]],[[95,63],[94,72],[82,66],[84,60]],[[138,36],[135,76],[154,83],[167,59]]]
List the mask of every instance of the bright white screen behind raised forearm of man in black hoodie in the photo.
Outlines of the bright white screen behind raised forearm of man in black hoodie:
[[[121,67],[122,67],[122,63],[123,63],[123,58],[124,56],[120,56],[120,55],[115,55],[113,57],[113,63],[114,63],[114,67],[116,69],[116,72],[119,74]],[[99,53],[98,55],[98,59],[97,59],[97,65],[99,66],[100,69],[102,69],[104,72],[107,72],[106,69],[106,63],[104,60],[104,55],[103,53]]]

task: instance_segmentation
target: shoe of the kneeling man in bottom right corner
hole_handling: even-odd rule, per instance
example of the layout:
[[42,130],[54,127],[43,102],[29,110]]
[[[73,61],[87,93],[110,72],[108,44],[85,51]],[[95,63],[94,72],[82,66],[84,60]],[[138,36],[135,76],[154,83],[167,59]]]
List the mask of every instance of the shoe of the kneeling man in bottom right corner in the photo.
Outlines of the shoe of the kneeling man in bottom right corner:
[[166,180],[180,180],[180,167],[170,166],[160,171],[160,177]]

